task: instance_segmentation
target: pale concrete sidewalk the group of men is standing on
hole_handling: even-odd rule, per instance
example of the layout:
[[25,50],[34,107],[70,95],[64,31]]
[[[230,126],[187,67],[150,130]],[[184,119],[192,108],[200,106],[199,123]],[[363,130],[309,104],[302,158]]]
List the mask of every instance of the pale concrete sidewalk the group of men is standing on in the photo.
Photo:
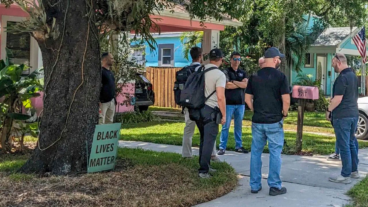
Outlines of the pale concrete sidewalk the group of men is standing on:
[[[120,141],[119,146],[181,153],[181,146],[176,145]],[[192,149],[198,155],[198,148],[193,147]],[[269,196],[267,185],[269,154],[262,154],[263,189],[258,194],[250,192],[250,153],[240,154],[226,151],[226,154],[219,158],[231,164],[241,175],[239,186],[225,196],[196,207],[341,207],[349,201],[349,197],[344,193],[368,173],[368,149],[359,151],[361,178],[351,179],[353,182],[350,184],[333,183],[328,180],[329,176],[340,173],[340,161],[327,161],[326,156],[282,155],[281,179],[283,186],[287,188],[287,193],[280,196]]]

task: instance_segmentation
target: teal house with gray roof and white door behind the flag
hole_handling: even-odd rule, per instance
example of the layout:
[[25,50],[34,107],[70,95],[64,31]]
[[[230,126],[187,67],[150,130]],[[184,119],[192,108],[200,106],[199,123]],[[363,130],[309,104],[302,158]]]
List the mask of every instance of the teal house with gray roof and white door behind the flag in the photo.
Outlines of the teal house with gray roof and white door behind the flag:
[[[308,26],[311,27],[312,25],[312,21],[309,22]],[[326,96],[331,95],[333,83],[339,75],[335,73],[332,67],[332,58],[335,54],[344,53],[346,56],[360,57],[358,49],[352,40],[360,30],[361,28],[357,27],[352,29],[350,27],[327,28],[317,36],[309,47],[309,53],[301,71],[304,74],[311,74],[314,80],[316,78],[320,79],[321,88]],[[361,59],[359,62],[361,62]],[[290,83],[293,84],[295,81],[297,81],[297,73],[291,71]]]

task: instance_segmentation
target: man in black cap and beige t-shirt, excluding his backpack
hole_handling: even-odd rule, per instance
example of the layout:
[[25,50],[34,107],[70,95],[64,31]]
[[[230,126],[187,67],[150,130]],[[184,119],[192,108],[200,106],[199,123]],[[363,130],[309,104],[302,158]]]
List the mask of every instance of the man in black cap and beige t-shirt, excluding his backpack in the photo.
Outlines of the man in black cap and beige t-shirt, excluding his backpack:
[[[212,49],[209,52],[210,63],[205,65],[205,70],[216,67],[215,70],[210,70],[205,73],[205,97],[212,94],[205,106],[201,109],[201,115],[196,122],[201,134],[201,142],[199,144],[199,165],[198,170],[200,178],[210,178],[209,173],[215,172],[215,169],[210,168],[210,158],[215,144],[217,134],[219,133],[219,123],[226,122],[226,102],[225,102],[225,74],[218,69],[223,60],[223,53],[220,49]],[[217,117],[220,116],[220,117]]]

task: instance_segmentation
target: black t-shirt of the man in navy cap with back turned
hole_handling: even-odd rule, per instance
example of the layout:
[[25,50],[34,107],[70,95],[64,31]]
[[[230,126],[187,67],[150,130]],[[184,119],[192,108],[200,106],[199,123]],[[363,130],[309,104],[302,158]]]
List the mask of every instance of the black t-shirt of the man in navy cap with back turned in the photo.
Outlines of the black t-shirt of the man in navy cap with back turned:
[[253,95],[252,122],[272,124],[281,121],[281,95],[290,92],[289,83],[283,73],[275,68],[265,67],[250,77],[245,92]]

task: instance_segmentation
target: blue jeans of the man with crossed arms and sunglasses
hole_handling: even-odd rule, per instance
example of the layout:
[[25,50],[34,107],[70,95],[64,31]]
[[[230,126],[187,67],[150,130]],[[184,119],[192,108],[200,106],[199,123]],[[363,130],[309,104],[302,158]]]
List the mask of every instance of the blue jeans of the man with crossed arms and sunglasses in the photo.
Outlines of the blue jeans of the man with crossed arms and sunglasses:
[[234,114],[234,137],[235,149],[243,147],[241,141],[241,131],[243,126],[245,105],[226,105],[226,123],[222,126],[219,148],[225,150],[227,138],[229,138],[229,128],[231,124],[231,116]]

